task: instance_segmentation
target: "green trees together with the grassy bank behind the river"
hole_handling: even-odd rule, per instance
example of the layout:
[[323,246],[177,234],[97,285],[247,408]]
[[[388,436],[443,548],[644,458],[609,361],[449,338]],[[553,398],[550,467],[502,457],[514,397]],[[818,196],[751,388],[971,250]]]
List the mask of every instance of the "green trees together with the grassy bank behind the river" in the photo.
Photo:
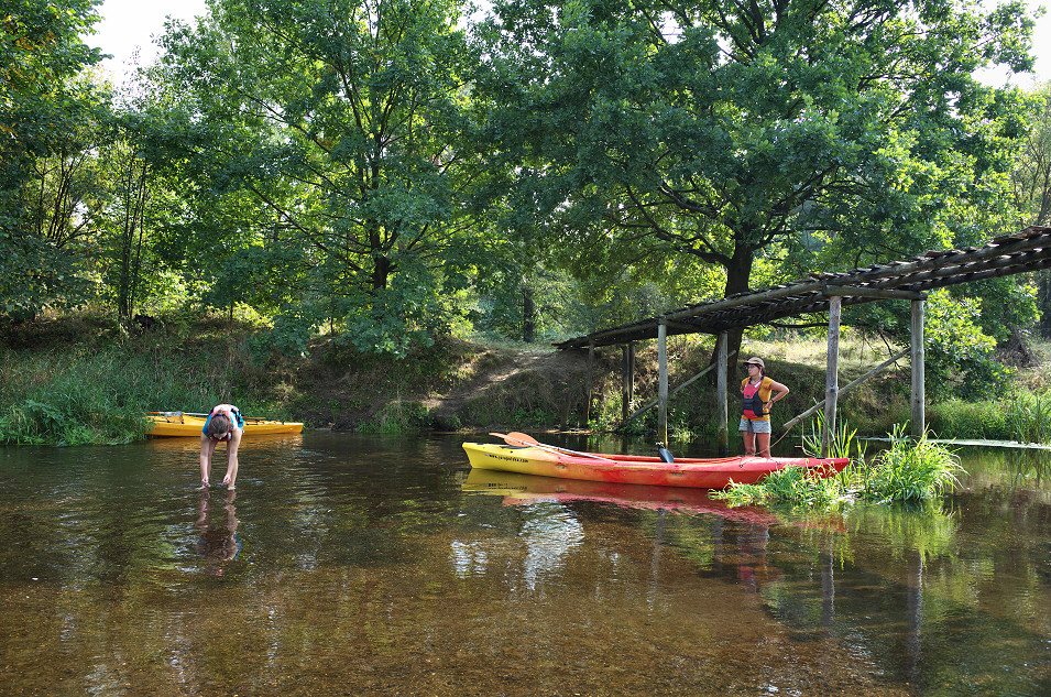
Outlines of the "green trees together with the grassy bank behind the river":
[[[8,442],[127,439],[143,411],[227,400],[347,428],[612,427],[612,379],[592,402],[538,345],[1051,220],[1051,88],[974,77],[1032,66],[1021,2],[212,0],[120,87],[97,6],[0,6]],[[1051,412],[1020,380],[1049,285],[931,294],[943,429]],[[860,356],[907,342],[898,305],[845,313]],[[821,326],[731,348],[813,382],[804,409],[818,369],[776,347]],[[676,350],[686,374],[710,340]],[[857,415],[883,427],[900,390],[873,390]],[[694,396],[679,433],[710,423]]]

